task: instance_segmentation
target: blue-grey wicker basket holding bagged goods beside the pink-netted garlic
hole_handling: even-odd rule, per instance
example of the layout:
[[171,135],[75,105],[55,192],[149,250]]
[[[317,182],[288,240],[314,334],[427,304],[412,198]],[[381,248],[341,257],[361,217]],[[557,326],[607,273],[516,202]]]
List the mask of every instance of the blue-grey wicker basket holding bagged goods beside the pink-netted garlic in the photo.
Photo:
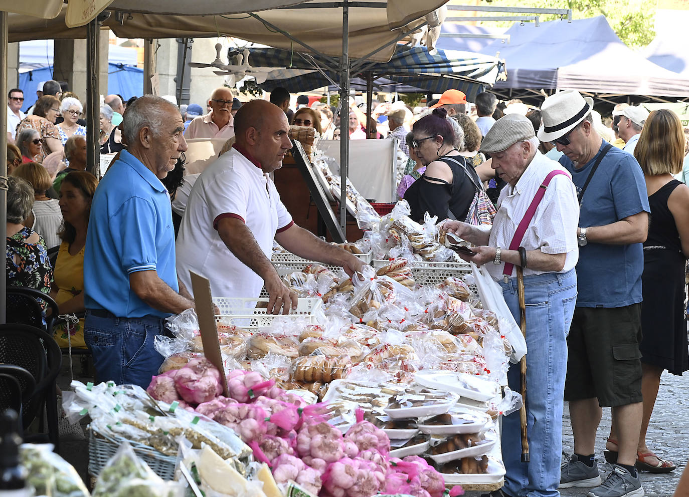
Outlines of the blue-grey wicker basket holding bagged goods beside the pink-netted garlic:
[[[91,476],[99,476],[101,470],[115,455],[119,446],[125,442],[125,438],[112,437],[101,433],[89,431],[88,437],[88,472]],[[155,474],[163,480],[174,479],[174,469],[176,456],[166,456],[148,445],[138,442],[129,442],[137,456],[139,456],[150,467]]]

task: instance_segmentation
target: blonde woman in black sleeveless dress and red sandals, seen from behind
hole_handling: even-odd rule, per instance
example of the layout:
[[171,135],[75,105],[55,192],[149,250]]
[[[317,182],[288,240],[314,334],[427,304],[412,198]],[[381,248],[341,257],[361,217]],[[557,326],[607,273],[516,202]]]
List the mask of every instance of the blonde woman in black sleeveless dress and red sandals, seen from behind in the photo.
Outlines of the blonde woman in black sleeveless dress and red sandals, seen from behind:
[[689,370],[687,324],[684,319],[684,274],[689,257],[689,187],[672,174],[682,170],[684,134],[677,114],[667,109],[650,113],[634,151],[646,178],[650,227],[644,242],[641,276],[641,393],[644,418],[639,435],[637,469],[666,473],[675,464],[664,461],[646,445],[646,431],[664,370],[681,375]]

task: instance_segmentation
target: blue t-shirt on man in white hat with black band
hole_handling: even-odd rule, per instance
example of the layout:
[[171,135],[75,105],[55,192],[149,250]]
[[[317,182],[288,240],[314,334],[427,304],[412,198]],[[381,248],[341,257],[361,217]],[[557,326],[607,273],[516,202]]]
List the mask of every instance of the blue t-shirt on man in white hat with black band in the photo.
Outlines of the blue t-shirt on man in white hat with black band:
[[[559,159],[572,173],[577,195],[605,145],[608,143],[603,140],[598,154],[580,169],[575,169],[567,156]],[[627,152],[612,147],[586,187],[579,209],[579,227],[612,224],[642,211],[650,213],[639,162]],[[623,307],[641,302],[643,271],[644,249],[640,243],[588,243],[579,247],[577,306]]]

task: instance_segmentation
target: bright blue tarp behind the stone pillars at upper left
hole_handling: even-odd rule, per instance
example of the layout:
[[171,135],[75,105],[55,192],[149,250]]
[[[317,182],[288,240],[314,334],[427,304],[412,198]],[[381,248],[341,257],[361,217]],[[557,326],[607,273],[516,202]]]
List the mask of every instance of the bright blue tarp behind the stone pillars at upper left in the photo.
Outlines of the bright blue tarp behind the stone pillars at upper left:
[[[25,111],[34,105],[38,84],[49,79],[52,79],[52,66],[19,74],[19,88],[24,92],[25,98],[22,110]],[[122,95],[125,101],[132,96],[141,96],[143,93],[143,70],[131,65],[108,64],[107,93]],[[81,103],[85,104],[85,98],[82,98]]]

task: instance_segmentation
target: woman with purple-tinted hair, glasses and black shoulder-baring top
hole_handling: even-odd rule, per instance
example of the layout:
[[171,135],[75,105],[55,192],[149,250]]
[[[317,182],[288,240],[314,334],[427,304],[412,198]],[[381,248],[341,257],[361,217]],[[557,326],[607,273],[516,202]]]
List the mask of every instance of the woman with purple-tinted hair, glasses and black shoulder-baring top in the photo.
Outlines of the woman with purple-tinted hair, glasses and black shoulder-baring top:
[[426,167],[421,178],[404,192],[404,200],[411,207],[411,219],[423,222],[424,214],[464,221],[474,197],[481,189],[481,180],[473,167],[454,146],[455,133],[442,107],[433,109],[412,129],[413,149],[417,162]]

